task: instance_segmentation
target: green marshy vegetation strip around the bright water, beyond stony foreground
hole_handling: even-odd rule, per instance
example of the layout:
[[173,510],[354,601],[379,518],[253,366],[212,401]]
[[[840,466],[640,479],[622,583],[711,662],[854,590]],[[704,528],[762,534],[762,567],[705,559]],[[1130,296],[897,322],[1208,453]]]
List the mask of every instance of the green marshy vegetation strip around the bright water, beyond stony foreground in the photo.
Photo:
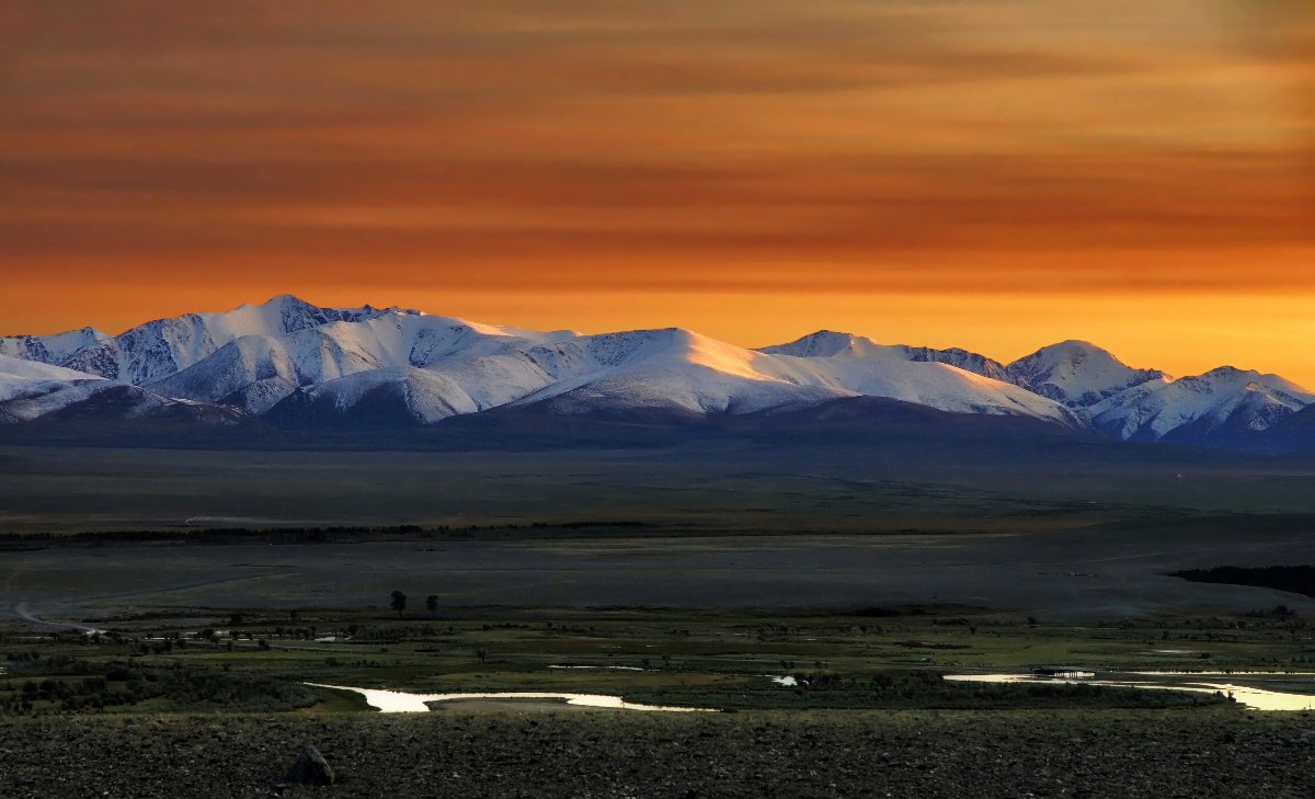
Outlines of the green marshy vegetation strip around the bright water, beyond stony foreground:
[[[356,698],[304,682],[417,693],[606,693],[726,710],[1186,707],[1216,698],[961,683],[942,675],[1055,666],[1315,669],[1312,631],[1297,615],[1187,614],[1091,624],[938,606],[485,608],[439,620],[430,620],[427,608],[397,612],[404,618],[317,608],[156,611],[103,620],[113,631],[105,636],[33,635],[12,623],[0,628],[0,651],[11,651],[0,675],[0,712],[293,710],[317,700],[320,711],[364,708]],[[794,685],[773,677],[793,677]],[[1233,679],[1293,689],[1281,675]]]

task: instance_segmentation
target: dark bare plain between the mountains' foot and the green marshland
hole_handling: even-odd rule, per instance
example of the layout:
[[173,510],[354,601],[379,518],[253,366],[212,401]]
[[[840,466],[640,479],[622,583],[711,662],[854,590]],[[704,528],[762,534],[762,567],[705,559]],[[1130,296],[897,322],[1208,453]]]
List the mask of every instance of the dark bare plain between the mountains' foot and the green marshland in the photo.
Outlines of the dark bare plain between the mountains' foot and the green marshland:
[[[18,602],[72,612],[362,607],[393,587],[464,606],[955,602],[1085,618],[1315,607],[1165,576],[1315,564],[1315,472],[1301,465],[1181,453],[1190,463],[1176,463],[1164,460],[1168,449],[1151,463],[1040,452],[1002,465],[743,447],[4,447],[0,544],[9,548],[33,534],[97,530],[419,530],[279,547],[260,536],[188,547],[33,541],[43,548],[0,559],[0,612]],[[572,523],[586,524],[563,527]]]

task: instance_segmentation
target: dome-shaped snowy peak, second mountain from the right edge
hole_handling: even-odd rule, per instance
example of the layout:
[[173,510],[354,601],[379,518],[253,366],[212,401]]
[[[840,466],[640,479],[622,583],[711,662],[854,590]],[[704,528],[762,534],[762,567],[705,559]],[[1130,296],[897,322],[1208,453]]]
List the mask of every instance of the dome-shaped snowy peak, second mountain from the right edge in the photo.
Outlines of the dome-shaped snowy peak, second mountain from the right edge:
[[1085,409],[1131,388],[1168,382],[1157,369],[1134,369],[1088,342],[1041,347],[1006,367],[1007,380],[1068,407]]

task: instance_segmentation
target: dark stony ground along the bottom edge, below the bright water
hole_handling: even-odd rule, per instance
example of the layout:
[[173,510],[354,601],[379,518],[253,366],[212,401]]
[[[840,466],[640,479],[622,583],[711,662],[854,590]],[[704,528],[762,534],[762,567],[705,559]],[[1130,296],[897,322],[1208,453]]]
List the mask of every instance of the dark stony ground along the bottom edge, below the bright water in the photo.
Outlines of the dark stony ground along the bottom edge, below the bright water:
[[1218,708],[7,719],[0,795],[270,796],[308,741],[343,779],[326,799],[1315,791],[1315,716]]

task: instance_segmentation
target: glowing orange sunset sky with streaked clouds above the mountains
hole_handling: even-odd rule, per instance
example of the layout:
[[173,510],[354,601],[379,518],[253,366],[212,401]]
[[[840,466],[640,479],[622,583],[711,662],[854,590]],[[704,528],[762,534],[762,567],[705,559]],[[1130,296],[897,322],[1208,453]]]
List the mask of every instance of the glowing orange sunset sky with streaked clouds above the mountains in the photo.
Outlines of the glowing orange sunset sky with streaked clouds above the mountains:
[[9,0],[0,279],[1315,386],[1315,3]]

